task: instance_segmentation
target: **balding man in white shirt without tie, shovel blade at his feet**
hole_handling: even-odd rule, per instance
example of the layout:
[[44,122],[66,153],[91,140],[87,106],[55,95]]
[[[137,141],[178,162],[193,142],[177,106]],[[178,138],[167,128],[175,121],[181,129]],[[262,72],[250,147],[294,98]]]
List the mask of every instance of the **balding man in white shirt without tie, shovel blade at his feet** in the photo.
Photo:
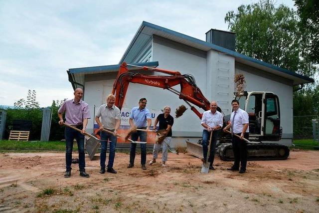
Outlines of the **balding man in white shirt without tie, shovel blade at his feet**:
[[218,138],[218,132],[216,130],[219,130],[223,127],[223,115],[217,111],[216,101],[212,101],[210,103],[210,110],[207,110],[203,113],[203,116],[201,118],[201,125],[204,127],[203,138],[202,138],[204,158],[201,160],[203,163],[206,163],[210,133],[211,131],[213,131],[208,162],[210,162],[209,169],[215,170],[213,167],[213,162],[214,162],[216,141]]

